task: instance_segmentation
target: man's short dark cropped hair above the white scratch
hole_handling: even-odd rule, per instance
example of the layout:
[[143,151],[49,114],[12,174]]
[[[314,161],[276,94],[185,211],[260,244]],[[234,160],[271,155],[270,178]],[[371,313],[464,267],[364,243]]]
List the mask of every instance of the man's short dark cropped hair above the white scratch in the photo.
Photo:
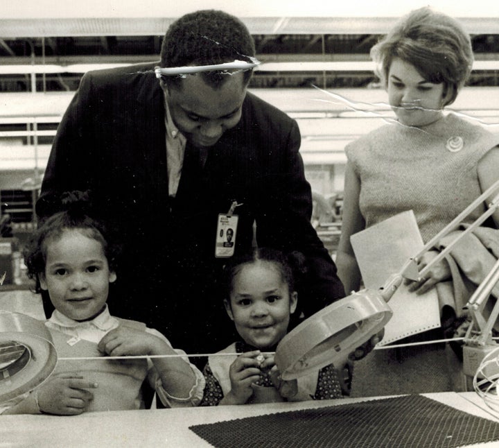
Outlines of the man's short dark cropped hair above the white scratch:
[[[234,60],[252,62],[255,46],[245,24],[237,17],[219,10],[200,10],[173,22],[161,45],[161,67],[214,65]],[[220,71],[200,74],[212,87],[222,85],[227,74]],[[252,70],[244,73],[249,83]],[[182,86],[182,76],[161,76],[168,87]]]

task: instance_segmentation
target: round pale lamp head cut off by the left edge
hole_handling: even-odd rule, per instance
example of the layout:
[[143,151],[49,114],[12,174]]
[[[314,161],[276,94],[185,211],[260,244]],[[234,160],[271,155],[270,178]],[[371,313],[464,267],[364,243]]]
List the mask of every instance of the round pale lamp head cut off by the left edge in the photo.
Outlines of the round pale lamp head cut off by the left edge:
[[57,353],[44,322],[25,314],[1,311],[0,345],[12,344],[25,350],[0,372],[0,403],[40,386],[57,363]]

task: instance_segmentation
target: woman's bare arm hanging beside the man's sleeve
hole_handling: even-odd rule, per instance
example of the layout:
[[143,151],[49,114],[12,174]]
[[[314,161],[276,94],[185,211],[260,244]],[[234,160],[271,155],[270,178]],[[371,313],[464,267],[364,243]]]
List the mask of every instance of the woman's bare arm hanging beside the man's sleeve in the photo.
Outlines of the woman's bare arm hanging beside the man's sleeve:
[[360,287],[360,270],[353,254],[350,236],[364,230],[365,221],[359,209],[360,180],[353,166],[347,162],[344,180],[342,233],[336,255],[338,277],[340,277],[347,295],[351,291],[358,291]]

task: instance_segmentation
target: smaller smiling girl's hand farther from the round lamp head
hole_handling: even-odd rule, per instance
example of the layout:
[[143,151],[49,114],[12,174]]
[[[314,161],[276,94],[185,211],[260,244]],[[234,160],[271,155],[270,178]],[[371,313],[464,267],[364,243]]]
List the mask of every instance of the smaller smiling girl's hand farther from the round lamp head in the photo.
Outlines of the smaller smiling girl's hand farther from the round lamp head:
[[231,391],[227,394],[226,404],[245,404],[253,395],[252,384],[258,381],[261,374],[261,362],[256,359],[260,354],[260,350],[240,354],[231,364]]

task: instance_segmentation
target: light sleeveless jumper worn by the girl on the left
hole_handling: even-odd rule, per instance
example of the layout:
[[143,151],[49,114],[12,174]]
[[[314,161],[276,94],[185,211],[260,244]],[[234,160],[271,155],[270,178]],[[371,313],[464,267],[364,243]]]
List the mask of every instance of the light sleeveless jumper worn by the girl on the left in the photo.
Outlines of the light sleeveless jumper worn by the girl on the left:
[[[119,320],[120,325],[136,329],[146,329],[146,325],[134,320]],[[50,329],[58,358],[95,357],[102,356],[103,360],[66,361],[58,359],[53,375],[64,372],[75,372],[89,381],[98,384],[91,389],[94,399],[87,412],[91,411],[122,411],[144,407],[141,386],[148,376],[146,359],[107,360],[97,349],[97,344],[80,339],[78,343],[70,345],[71,336],[61,331]]]

